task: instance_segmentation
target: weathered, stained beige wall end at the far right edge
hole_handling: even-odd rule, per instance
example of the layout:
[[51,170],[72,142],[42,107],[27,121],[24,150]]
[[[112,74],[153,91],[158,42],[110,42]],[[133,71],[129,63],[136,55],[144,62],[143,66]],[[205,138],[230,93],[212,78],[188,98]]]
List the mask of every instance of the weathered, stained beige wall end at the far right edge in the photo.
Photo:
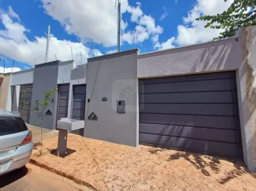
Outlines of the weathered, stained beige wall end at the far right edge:
[[241,30],[242,56],[245,69],[248,126],[251,149],[253,150],[254,170],[256,170],[256,26]]

